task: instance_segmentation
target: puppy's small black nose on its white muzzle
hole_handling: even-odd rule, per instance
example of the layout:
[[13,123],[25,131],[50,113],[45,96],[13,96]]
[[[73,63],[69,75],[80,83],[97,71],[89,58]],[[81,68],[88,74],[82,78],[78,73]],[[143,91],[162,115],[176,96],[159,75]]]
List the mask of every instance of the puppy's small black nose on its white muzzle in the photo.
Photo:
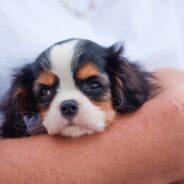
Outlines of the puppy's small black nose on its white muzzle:
[[75,100],[65,100],[61,103],[61,114],[66,119],[73,118],[78,111],[78,103]]

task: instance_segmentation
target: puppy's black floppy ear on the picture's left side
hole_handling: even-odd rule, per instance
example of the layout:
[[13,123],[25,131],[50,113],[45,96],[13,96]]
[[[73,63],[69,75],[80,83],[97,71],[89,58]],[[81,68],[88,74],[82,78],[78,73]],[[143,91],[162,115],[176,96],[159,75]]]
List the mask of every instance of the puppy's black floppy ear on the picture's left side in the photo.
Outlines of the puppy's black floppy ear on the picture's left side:
[[21,137],[25,134],[23,115],[30,107],[35,108],[31,92],[32,85],[33,73],[29,65],[15,72],[12,85],[0,105],[4,119],[3,137]]

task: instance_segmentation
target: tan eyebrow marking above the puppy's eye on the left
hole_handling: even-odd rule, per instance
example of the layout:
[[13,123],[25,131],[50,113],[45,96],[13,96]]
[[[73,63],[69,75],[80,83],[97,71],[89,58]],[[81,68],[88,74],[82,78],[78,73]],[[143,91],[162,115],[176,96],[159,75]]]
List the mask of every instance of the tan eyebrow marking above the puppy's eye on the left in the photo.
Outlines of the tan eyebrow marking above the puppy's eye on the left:
[[57,77],[53,73],[48,71],[43,71],[38,76],[38,79],[36,80],[36,82],[51,86],[56,82],[56,79]]

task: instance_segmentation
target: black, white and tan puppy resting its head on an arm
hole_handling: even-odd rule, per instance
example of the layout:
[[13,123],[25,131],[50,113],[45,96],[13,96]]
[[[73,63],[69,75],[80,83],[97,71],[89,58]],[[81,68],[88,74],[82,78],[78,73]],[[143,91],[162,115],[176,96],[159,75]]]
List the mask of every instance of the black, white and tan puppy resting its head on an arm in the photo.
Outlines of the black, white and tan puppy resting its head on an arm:
[[2,102],[3,137],[101,132],[149,97],[151,74],[122,56],[123,47],[84,39],[54,44],[15,72]]

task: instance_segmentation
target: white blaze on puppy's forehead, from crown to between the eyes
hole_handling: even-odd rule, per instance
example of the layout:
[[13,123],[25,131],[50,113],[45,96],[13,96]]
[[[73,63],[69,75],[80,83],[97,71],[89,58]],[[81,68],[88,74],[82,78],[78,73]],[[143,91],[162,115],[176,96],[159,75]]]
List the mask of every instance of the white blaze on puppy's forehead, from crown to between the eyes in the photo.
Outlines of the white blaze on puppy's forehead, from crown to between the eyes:
[[50,52],[52,72],[59,78],[63,87],[74,87],[72,73],[72,58],[77,40],[72,40],[61,45],[56,45]]

